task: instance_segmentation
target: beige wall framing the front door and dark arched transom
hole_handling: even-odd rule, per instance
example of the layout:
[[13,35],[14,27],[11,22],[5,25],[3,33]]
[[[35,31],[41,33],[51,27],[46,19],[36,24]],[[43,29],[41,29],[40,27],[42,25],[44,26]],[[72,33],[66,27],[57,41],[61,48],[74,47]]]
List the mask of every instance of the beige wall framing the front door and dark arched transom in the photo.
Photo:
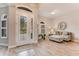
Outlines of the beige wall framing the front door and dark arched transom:
[[34,43],[37,43],[38,41],[38,34],[37,34],[37,20],[38,20],[38,16],[37,16],[37,6],[35,4],[13,4],[9,6],[9,45],[8,48],[13,48],[17,45],[16,43],[16,6],[18,5],[24,5],[24,6],[28,6],[29,8],[32,9],[33,11],[33,15],[34,15]]

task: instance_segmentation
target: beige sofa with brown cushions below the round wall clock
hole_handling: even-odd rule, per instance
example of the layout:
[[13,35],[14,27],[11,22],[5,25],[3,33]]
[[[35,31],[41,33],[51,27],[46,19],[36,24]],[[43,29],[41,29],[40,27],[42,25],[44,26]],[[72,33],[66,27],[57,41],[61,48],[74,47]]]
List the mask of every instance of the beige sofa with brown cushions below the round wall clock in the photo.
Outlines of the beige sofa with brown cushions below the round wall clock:
[[63,41],[71,41],[73,39],[73,35],[71,32],[61,32],[56,31],[55,34],[49,34],[49,40],[53,40],[56,42],[63,42]]

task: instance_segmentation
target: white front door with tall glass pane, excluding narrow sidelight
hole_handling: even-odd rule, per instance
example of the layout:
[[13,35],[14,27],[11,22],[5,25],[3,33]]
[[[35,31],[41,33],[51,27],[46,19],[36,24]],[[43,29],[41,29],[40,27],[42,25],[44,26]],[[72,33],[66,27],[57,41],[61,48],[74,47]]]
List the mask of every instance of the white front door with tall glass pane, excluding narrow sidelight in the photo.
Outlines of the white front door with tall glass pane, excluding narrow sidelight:
[[16,16],[16,41],[28,42],[31,40],[31,20],[28,15]]

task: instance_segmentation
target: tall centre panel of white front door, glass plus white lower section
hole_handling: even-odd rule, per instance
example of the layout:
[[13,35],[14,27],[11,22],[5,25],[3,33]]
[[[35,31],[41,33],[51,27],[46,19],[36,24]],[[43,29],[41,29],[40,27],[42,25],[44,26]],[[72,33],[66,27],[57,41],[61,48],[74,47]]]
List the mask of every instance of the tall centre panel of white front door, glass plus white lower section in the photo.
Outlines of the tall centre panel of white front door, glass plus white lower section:
[[27,17],[20,16],[19,23],[20,40],[27,40]]

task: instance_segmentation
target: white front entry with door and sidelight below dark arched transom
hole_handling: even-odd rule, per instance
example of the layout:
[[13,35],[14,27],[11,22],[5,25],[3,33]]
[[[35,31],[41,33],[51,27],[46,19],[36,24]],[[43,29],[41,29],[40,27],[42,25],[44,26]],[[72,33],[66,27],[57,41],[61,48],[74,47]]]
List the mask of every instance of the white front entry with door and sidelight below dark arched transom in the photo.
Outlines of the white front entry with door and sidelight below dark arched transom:
[[16,12],[16,42],[18,45],[29,44],[33,41],[32,13],[17,9]]

